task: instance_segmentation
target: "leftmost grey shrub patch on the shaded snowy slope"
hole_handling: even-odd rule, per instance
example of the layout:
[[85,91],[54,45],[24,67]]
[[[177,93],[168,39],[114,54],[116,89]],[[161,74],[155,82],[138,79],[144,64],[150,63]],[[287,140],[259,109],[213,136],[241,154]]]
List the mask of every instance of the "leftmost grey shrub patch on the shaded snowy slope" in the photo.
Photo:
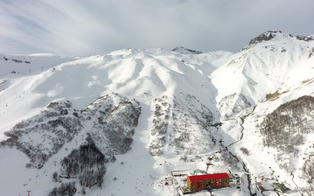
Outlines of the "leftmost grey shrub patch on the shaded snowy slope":
[[81,121],[66,115],[66,108],[72,109],[72,103],[50,103],[47,110],[32,120],[22,120],[5,132],[9,138],[1,141],[1,145],[16,146],[30,158],[33,167],[41,168],[65,142],[71,141],[82,130]]

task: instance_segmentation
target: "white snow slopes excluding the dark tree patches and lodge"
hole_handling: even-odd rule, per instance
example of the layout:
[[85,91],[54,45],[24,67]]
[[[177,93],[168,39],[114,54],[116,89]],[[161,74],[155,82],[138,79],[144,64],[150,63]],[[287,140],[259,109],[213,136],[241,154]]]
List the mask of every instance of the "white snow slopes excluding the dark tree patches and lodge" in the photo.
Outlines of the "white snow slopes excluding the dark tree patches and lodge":
[[[62,58],[67,57],[33,55],[29,57],[31,63],[24,63],[27,69],[21,71],[18,69],[22,63],[10,60],[17,57],[5,55],[7,61],[0,59],[0,66],[5,67],[0,77],[0,89],[3,89],[0,91],[0,139],[8,139],[4,133],[21,120],[40,116],[51,102],[68,100],[71,107],[84,111],[99,97],[116,93],[138,102],[141,114],[131,149],[124,154],[115,154],[116,161],[106,164],[102,187],[95,185],[87,189],[88,195],[173,195],[175,186],[165,187],[164,181],[160,183],[161,179],[168,177],[172,170],[196,168],[241,175],[241,191],[234,184],[230,190],[215,190],[215,195],[247,195],[249,192],[262,195],[257,182],[262,175],[270,174],[280,176],[278,181],[298,189],[306,184],[300,171],[303,157],[290,158],[293,181],[290,172],[280,168],[280,162],[275,161],[273,155],[277,149],[263,146],[263,136],[257,125],[280,104],[313,94],[314,41],[311,39],[311,36],[268,31],[252,39],[236,54],[226,51],[201,53],[182,47],[172,51],[129,48],[75,61],[68,58],[70,62],[64,63]],[[28,56],[20,58],[26,61]],[[36,64],[35,59],[40,63]],[[20,73],[7,74],[12,70],[3,62],[10,62]],[[41,71],[44,62],[49,62],[45,66],[49,64],[51,69]],[[59,65],[52,68],[52,64]],[[30,67],[37,68],[38,72],[29,72]],[[109,107],[110,103],[100,105],[103,107],[100,111],[114,109],[112,105]],[[124,111],[120,112],[122,115]],[[101,115],[96,112],[90,116],[97,120]],[[6,183],[3,178],[0,180],[4,195],[25,193],[26,189],[31,189],[32,195],[48,195],[52,188],[60,186],[60,183],[52,182],[51,176],[54,171],[60,171],[61,163],[57,162],[55,167],[53,161],[67,156],[71,149],[78,149],[83,142],[81,135],[94,129],[94,123],[82,121],[82,129],[40,169],[26,169],[25,164],[30,160],[25,154],[1,147],[0,165],[8,168],[4,174]],[[106,145],[101,146],[102,142],[108,142],[109,137],[96,142],[103,153]],[[299,152],[309,147],[311,137],[304,146],[298,147]],[[78,141],[78,146],[74,140]],[[249,149],[249,155],[244,154],[241,147]],[[16,157],[20,157],[19,162],[13,161]],[[203,162],[191,162],[195,157],[202,158]],[[213,164],[209,168],[205,164],[208,158]],[[18,171],[23,175],[16,180]],[[116,181],[113,181],[114,177]],[[175,180],[182,186],[182,179]],[[62,178],[63,182],[73,180],[79,187],[78,179]],[[80,195],[80,189],[76,195]],[[298,190],[287,194],[300,195]]]

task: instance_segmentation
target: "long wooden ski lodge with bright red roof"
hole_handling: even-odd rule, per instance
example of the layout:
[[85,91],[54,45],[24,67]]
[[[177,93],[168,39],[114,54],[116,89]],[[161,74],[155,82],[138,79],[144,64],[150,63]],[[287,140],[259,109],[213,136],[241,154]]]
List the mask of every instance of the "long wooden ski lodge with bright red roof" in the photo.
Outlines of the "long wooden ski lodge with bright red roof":
[[229,187],[227,173],[215,173],[187,177],[187,187],[191,192],[206,190],[208,188]]

